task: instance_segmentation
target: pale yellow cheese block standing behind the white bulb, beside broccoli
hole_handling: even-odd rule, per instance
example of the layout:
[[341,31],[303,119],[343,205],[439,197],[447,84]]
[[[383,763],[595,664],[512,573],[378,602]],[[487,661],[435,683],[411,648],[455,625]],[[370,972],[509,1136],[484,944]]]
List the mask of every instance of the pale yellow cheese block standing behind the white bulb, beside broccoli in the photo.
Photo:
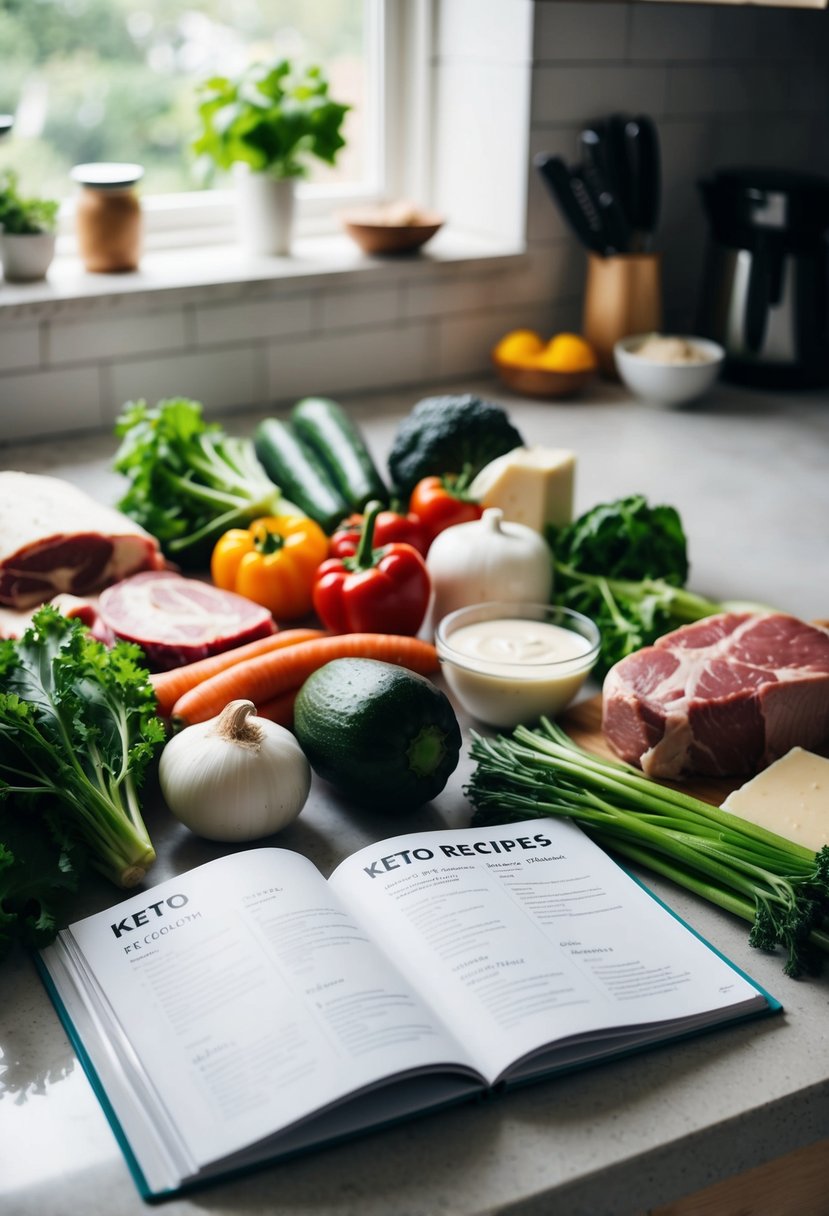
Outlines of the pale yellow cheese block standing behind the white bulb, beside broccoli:
[[514,447],[478,473],[469,494],[503,518],[543,531],[573,519],[576,457],[563,447]]

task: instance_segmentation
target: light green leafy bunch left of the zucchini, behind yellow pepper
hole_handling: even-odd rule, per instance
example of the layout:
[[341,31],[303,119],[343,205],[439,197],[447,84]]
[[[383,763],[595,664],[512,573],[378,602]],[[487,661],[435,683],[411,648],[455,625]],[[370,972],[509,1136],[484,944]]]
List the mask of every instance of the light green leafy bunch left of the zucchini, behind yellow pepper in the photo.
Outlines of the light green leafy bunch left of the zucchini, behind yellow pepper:
[[118,506],[184,567],[207,565],[229,528],[259,516],[304,513],[282,497],[253,440],[205,422],[199,401],[168,398],[152,407],[129,401],[115,435],[122,443],[114,467],[130,480]]

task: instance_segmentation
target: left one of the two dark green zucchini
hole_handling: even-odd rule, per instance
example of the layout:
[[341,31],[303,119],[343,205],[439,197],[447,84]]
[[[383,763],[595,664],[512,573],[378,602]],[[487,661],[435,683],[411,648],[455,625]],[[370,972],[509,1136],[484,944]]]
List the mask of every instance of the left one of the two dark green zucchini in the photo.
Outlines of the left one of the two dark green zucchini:
[[328,469],[282,418],[265,418],[253,435],[253,446],[265,472],[309,518],[331,533],[351,506],[337,489]]

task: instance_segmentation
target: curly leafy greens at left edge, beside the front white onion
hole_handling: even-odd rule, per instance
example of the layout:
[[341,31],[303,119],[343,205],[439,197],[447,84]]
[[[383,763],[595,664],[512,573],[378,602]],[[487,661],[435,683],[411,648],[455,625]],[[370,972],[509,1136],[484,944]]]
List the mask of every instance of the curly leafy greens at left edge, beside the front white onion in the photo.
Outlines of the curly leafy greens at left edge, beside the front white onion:
[[0,642],[0,956],[44,945],[85,865],[120,886],[156,854],[137,790],[164,741],[136,646],[45,606]]

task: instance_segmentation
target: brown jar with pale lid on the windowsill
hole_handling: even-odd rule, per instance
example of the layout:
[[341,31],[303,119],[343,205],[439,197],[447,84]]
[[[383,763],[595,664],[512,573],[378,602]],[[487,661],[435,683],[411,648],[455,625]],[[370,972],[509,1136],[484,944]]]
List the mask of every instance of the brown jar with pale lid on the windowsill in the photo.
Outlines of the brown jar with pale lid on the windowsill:
[[77,164],[72,170],[80,186],[75,232],[86,270],[118,274],[137,269],[143,225],[135,187],[142,176],[140,164]]

